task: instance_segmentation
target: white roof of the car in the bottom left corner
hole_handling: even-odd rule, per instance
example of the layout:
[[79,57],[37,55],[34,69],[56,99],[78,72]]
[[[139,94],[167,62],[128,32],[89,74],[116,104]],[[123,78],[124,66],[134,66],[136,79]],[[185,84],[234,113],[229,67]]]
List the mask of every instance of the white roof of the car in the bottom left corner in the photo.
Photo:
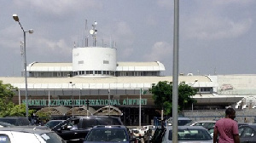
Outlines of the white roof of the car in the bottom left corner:
[[15,132],[23,132],[23,133],[32,133],[32,134],[45,134],[45,133],[54,133],[54,131],[48,129],[30,129],[30,128],[0,128],[0,131],[15,131]]

